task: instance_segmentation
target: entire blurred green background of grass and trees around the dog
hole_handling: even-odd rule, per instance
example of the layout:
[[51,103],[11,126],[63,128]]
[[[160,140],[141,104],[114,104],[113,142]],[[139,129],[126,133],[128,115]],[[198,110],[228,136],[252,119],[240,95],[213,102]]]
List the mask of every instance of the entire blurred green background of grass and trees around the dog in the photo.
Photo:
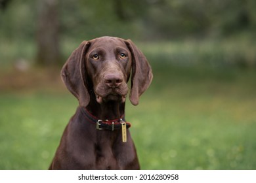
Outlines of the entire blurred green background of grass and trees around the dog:
[[256,169],[255,0],[0,0],[0,169],[48,169],[83,40],[131,39],[154,80],[126,119],[142,169]]

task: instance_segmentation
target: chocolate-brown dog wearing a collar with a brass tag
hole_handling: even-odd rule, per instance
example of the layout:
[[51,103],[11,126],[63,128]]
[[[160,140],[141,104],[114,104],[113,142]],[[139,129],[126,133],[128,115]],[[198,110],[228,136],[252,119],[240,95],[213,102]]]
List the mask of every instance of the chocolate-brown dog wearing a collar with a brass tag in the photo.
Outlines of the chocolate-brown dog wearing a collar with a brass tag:
[[142,52],[132,41],[116,37],[83,41],[61,75],[79,107],[49,169],[139,169],[131,124],[124,116],[130,75],[133,105],[152,81]]

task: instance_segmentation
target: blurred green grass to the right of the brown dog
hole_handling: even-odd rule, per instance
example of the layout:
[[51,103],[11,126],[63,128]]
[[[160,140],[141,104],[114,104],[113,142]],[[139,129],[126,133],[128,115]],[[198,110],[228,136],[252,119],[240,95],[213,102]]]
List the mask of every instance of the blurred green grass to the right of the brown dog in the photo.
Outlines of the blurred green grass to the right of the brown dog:
[[170,76],[150,102],[141,101],[142,168],[255,169],[255,74],[196,75]]

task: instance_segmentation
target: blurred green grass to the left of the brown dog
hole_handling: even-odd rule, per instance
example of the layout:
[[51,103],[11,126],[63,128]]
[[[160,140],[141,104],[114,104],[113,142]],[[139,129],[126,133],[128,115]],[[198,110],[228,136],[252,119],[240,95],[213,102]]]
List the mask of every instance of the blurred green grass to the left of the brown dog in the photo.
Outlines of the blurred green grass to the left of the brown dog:
[[1,95],[0,169],[47,169],[74,110],[68,95]]

